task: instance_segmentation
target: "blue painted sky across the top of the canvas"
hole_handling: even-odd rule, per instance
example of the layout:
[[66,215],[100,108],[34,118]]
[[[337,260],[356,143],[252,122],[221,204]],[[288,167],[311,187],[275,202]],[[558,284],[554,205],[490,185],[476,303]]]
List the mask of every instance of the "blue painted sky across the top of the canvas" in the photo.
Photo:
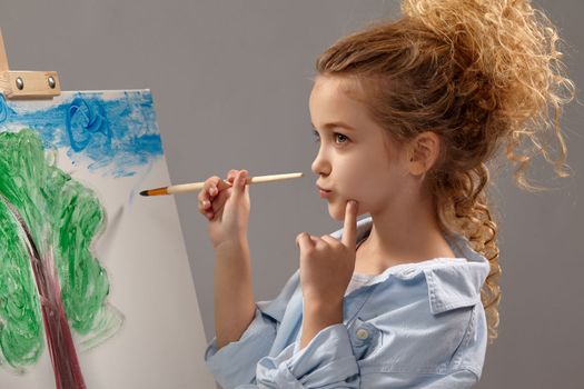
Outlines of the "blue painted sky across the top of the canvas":
[[0,94],[0,131],[31,128],[44,148],[67,148],[72,163],[90,171],[135,176],[164,153],[150,91],[63,92],[53,104],[6,101]]

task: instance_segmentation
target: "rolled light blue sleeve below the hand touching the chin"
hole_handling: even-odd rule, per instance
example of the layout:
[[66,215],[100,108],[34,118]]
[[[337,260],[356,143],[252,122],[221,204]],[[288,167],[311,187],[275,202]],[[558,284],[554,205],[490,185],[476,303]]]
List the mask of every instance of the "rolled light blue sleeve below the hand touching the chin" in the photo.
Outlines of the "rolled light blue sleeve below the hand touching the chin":
[[259,388],[359,388],[359,368],[343,323],[320,330],[299,350],[300,339],[257,366]]

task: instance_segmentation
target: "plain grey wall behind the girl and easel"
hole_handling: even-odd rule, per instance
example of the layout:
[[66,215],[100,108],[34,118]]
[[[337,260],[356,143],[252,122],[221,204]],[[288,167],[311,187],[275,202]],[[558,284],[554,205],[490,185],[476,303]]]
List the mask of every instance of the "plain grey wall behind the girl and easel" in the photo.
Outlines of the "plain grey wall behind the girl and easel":
[[[568,43],[573,80],[584,84],[583,3],[538,4]],[[250,188],[256,300],[268,300],[298,266],[297,233],[340,227],[310,172],[317,150],[308,111],[314,60],[338,37],[397,14],[397,1],[2,0],[0,27],[13,70],[57,70],[63,90],[150,88],[175,183],[231,168],[305,172]],[[553,179],[542,161],[531,170],[556,190],[524,192],[508,171],[494,173],[504,295],[499,338],[487,350],[478,388],[582,387],[583,121],[581,104],[566,108],[562,124],[573,178]],[[206,220],[196,193],[177,203],[210,339],[214,253]]]

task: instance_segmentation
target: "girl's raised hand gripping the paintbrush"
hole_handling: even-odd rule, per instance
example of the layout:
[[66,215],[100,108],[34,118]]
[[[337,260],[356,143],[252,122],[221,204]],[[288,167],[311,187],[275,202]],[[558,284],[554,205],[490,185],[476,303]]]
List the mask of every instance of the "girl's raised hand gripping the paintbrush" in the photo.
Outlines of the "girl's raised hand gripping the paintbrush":
[[226,241],[247,239],[249,222],[249,186],[247,170],[229,170],[227,182],[217,176],[205,180],[199,192],[199,212],[209,220],[214,248]]

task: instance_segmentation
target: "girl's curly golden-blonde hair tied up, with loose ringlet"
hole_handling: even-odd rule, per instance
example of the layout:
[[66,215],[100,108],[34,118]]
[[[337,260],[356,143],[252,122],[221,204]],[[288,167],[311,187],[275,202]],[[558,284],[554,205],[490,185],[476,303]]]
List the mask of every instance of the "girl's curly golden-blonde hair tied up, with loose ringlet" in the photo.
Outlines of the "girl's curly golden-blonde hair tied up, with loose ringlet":
[[[426,130],[439,136],[441,157],[424,184],[443,231],[463,233],[489,261],[481,297],[493,342],[502,269],[486,162],[504,146],[516,183],[529,191],[543,190],[525,178],[536,153],[570,176],[560,116],[575,87],[555,27],[528,0],[404,0],[402,11],[335,42],[316,70],[359,82],[372,118],[396,142]],[[548,133],[561,147],[555,160]]]

